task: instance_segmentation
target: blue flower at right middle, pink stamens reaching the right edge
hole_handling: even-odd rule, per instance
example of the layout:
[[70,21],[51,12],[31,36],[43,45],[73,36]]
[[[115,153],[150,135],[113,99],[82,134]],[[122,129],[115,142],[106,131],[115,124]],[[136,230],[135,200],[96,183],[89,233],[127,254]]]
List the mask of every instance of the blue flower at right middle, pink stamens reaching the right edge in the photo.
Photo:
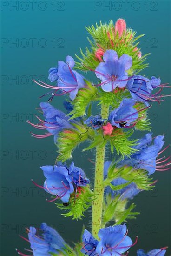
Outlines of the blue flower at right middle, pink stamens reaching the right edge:
[[[140,139],[137,142],[139,144],[134,147],[135,149],[138,149],[138,151],[132,154],[131,159],[125,157],[124,160],[118,163],[118,166],[128,165],[136,169],[144,169],[148,172],[149,175],[153,174],[156,171],[156,169],[162,170],[162,168],[169,164],[167,163],[162,166],[157,166],[156,164],[156,158],[158,157],[158,153],[164,145],[163,139],[164,136],[158,135],[155,137],[154,142],[151,145],[151,134],[146,134],[144,138]],[[158,164],[165,162],[167,160],[168,159],[158,162]]]

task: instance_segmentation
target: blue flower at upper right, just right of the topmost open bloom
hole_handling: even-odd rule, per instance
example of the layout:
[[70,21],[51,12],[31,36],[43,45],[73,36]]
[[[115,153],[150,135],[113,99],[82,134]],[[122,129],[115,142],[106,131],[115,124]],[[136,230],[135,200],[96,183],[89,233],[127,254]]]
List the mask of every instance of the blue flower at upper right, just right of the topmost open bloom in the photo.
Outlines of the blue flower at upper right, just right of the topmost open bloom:
[[[128,80],[126,87],[134,100],[145,102],[145,104],[148,105],[148,102],[156,101],[158,98],[153,98],[151,92],[153,89],[157,88],[160,83],[160,78],[156,78],[155,76],[152,76],[151,80],[149,80],[144,76],[137,75]],[[156,96],[157,95],[158,94],[156,94]]]

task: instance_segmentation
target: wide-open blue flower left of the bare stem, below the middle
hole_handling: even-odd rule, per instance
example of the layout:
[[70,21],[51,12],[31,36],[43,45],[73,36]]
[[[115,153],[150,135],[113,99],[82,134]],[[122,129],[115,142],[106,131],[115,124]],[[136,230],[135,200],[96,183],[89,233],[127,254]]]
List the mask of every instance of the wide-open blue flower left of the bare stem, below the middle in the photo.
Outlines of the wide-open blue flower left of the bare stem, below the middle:
[[46,181],[43,188],[47,193],[55,195],[55,198],[49,202],[53,202],[60,198],[62,202],[67,203],[70,198],[70,194],[73,193],[74,187],[72,184],[72,178],[68,173],[65,166],[46,165],[40,167],[43,170]]

